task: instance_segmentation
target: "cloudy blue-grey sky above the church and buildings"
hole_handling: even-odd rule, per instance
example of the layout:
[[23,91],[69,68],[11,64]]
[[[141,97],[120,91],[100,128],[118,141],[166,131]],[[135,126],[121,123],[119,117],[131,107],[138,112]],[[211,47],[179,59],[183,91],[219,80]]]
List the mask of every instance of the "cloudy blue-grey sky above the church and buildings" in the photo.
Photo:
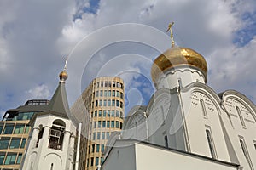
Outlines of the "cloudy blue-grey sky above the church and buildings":
[[94,77],[125,80],[125,111],[154,93],[153,60],[176,45],[207,60],[207,84],[256,103],[255,0],[44,0],[0,2],[0,115],[50,99],[68,55],[69,105]]

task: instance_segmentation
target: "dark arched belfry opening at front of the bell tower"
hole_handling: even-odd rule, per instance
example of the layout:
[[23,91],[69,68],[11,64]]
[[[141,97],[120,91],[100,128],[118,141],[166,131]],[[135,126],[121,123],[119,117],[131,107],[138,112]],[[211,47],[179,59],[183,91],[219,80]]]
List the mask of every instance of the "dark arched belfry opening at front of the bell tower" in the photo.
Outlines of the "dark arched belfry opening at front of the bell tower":
[[49,148],[62,150],[65,127],[65,122],[61,121],[60,119],[53,122],[49,133]]

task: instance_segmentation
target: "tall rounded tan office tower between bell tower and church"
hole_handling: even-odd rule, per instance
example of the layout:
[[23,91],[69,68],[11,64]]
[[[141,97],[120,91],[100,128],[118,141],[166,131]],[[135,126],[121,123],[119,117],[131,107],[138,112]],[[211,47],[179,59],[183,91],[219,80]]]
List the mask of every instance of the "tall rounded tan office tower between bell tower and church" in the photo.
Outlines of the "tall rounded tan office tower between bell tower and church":
[[119,77],[98,77],[72,106],[72,114],[83,120],[79,170],[96,170],[109,136],[123,127],[124,89]]

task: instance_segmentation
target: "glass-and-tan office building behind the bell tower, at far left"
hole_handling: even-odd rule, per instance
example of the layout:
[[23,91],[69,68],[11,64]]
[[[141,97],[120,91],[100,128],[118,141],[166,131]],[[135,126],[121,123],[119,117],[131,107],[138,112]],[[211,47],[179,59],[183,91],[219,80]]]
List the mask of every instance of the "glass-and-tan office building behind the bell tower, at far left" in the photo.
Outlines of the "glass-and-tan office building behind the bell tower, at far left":
[[28,122],[35,113],[47,111],[48,105],[49,100],[34,99],[5,112],[0,122],[0,169],[20,169],[31,130]]

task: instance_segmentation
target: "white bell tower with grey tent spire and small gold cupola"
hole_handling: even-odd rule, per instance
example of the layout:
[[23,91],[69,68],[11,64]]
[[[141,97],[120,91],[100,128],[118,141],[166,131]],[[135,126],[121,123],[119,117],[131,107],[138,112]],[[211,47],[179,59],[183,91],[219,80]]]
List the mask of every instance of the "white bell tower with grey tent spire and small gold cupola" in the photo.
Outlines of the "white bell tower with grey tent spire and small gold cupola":
[[[67,65],[67,61],[66,61]],[[32,116],[32,127],[23,170],[73,169],[75,123],[69,119],[65,81],[66,65],[49,103],[49,110]]]

